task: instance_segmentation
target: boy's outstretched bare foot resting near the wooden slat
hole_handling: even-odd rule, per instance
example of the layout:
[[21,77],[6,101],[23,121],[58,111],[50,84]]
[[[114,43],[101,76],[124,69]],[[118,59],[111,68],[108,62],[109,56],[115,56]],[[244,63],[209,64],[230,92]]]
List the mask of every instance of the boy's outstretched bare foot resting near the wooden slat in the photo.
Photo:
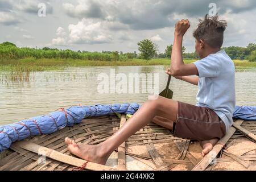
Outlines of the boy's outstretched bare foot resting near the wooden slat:
[[109,158],[99,145],[77,144],[70,138],[65,138],[65,143],[72,154],[89,162],[105,165]]

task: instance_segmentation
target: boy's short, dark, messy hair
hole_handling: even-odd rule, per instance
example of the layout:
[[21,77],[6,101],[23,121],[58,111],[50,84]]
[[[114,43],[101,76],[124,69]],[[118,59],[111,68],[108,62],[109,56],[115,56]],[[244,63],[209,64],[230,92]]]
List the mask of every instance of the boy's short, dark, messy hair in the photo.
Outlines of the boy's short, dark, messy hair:
[[227,25],[225,20],[218,20],[218,14],[212,17],[207,14],[204,20],[199,19],[193,36],[197,40],[204,40],[210,47],[221,48]]

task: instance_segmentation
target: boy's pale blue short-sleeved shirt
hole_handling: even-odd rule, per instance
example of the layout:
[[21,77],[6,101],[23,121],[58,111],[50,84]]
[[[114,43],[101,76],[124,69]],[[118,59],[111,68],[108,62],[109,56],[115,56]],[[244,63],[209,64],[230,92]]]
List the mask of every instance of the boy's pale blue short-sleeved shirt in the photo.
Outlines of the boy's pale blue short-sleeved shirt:
[[212,109],[225,123],[226,131],[233,124],[236,105],[235,67],[221,50],[193,63],[199,72],[197,106]]

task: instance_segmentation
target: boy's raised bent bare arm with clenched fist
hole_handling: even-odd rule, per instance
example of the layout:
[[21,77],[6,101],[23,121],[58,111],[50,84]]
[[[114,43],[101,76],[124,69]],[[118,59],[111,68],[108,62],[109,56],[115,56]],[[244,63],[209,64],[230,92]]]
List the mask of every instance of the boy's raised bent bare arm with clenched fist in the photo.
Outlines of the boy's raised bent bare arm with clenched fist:
[[172,76],[199,75],[195,64],[184,64],[182,57],[182,41],[185,32],[190,27],[188,20],[180,20],[176,23],[174,33],[174,45],[171,56]]

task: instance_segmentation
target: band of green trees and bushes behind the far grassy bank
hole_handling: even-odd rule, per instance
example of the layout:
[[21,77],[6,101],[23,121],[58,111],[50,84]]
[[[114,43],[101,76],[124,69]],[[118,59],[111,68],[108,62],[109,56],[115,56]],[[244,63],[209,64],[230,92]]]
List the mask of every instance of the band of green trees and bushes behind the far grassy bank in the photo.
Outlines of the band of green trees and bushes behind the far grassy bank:
[[[231,59],[256,61],[256,44],[249,43],[247,47],[230,46],[222,48],[228,53]],[[141,40],[138,42],[138,51],[126,52],[122,51],[72,51],[71,49],[57,49],[44,47],[42,49],[16,47],[15,44],[4,42],[0,44],[0,59],[23,59],[33,57],[35,59],[85,59],[85,60],[100,60],[100,61],[125,61],[130,59],[170,59],[172,45],[167,46],[164,52],[159,52],[157,44],[150,39]],[[196,52],[185,52],[185,47],[182,47],[184,59],[199,59]]]

